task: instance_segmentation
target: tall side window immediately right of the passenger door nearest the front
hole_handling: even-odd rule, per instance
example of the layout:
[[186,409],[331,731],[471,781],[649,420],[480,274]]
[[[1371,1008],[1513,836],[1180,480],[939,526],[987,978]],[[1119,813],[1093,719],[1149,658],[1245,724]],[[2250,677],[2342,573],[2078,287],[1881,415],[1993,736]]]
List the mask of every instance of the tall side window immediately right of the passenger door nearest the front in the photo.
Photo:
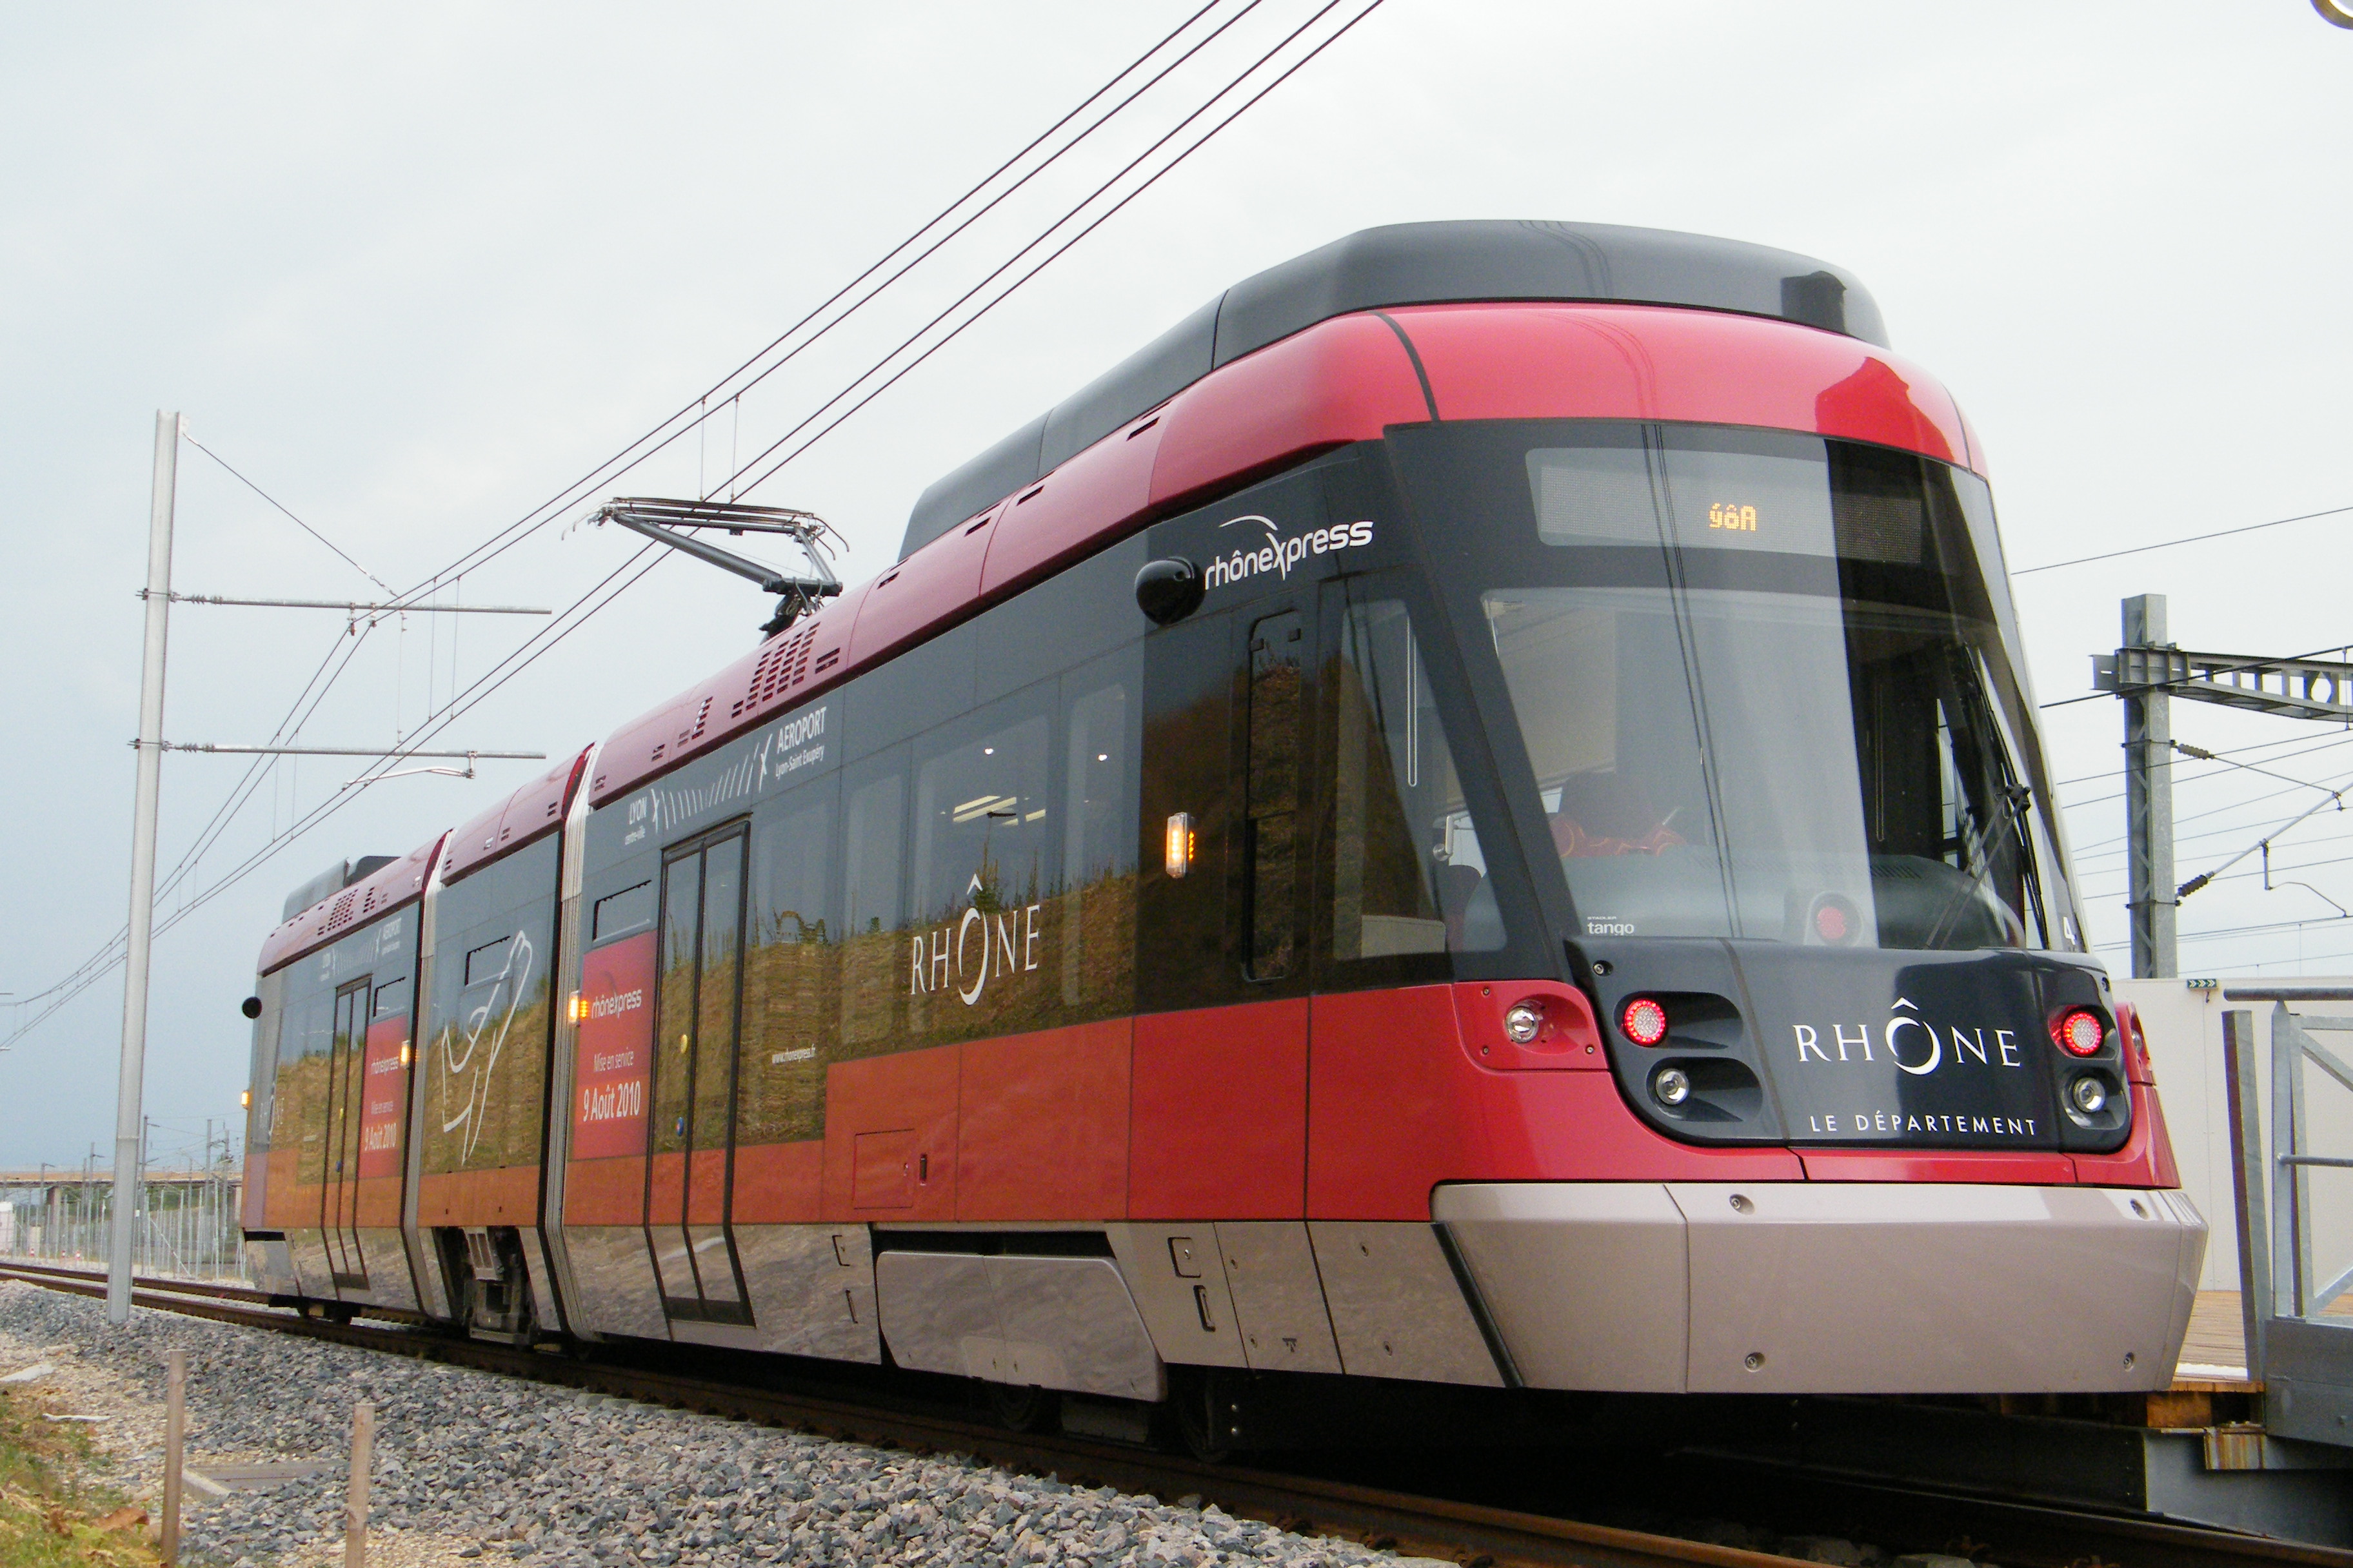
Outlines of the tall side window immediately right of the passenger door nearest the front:
[[744,931],[744,1067],[736,1143],[826,1131],[826,1063],[840,1034],[833,912],[833,788],[826,778],[753,816]]

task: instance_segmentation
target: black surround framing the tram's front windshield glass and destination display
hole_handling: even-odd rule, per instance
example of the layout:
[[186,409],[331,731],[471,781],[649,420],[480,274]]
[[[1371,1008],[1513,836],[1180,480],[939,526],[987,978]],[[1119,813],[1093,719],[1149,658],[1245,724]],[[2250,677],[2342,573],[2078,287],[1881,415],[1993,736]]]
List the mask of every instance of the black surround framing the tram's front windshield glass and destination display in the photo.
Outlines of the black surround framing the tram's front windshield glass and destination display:
[[[1838,442],[1786,430],[1699,425],[1668,421],[1449,421],[1398,425],[1388,433],[1400,491],[1414,517],[1433,583],[1447,607],[1457,654],[1473,689],[1480,729],[1489,738],[1504,795],[1511,799],[1513,832],[1529,846],[1527,870],[1548,919],[1572,940],[1588,933],[1569,879],[1548,853],[1553,825],[1537,788],[1537,769],[1522,741],[1504,670],[1487,628],[1487,595],[1494,590],[1659,590],[1664,595],[1769,592],[1828,599],[1833,604],[1885,607],[1974,623],[1986,665],[1988,717],[2002,736],[2009,769],[2026,809],[2021,849],[2031,863],[2035,910],[2026,919],[2026,950],[2080,954],[2082,919],[2066,875],[2066,846],[2054,811],[2026,682],[2017,618],[1993,522],[1991,491],[1977,475],[1911,451]],[[1529,454],[1548,447],[1619,447],[1631,454],[1666,449],[1765,454],[1824,465],[1833,473],[1915,475],[1934,498],[1941,520],[1929,564],[1854,559],[1828,550],[1661,550],[1659,541],[1539,536]],[[1986,632],[1984,628],[1991,628]],[[1727,933],[1713,933],[1727,936]]]

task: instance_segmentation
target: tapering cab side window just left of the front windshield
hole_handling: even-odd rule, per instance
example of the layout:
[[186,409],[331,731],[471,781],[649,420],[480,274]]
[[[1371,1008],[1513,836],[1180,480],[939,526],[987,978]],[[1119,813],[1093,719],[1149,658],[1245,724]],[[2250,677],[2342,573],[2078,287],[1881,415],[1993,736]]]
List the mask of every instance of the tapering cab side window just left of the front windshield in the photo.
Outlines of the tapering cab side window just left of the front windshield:
[[1346,607],[1332,689],[1332,959],[1501,947],[1487,860],[1402,602]]

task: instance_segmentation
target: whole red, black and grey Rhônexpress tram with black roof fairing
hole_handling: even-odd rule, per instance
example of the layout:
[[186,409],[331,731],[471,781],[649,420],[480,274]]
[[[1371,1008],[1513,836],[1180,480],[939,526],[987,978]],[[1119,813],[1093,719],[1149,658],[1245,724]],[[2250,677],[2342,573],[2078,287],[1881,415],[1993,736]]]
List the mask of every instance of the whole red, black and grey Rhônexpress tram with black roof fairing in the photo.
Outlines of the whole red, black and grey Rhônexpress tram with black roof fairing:
[[296,891],[252,1267],[1141,1403],[2165,1387],[2205,1222],[1984,468],[1805,256],[1259,273],[889,571]]

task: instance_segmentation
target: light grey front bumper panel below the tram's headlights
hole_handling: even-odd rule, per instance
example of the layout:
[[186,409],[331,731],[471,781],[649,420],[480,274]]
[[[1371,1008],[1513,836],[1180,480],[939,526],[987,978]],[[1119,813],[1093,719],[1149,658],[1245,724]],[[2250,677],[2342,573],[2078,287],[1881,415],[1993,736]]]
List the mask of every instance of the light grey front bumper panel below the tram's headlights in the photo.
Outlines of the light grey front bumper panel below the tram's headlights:
[[1569,1389],[2162,1389],[2205,1251],[2186,1199],[2115,1187],[1532,1182],[1433,1208],[1520,1375]]

